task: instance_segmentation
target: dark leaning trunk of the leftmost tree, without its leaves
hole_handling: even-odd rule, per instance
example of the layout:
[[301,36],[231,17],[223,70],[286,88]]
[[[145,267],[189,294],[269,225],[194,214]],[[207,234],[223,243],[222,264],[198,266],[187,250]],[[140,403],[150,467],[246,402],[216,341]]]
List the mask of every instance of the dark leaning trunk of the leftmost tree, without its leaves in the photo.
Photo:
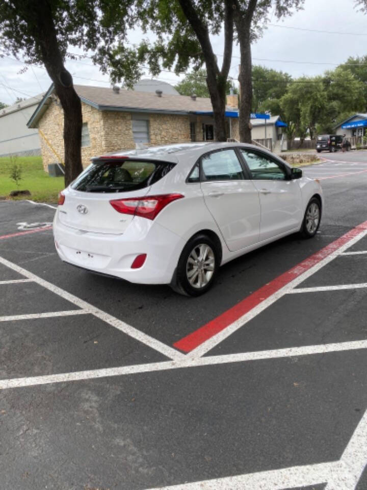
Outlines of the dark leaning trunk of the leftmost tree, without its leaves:
[[83,170],[82,103],[74,90],[72,77],[65,69],[48,1],[36,0],[33,2],[33,10],[38,19],[34,38],[64,110],[65,186],[68,186]]

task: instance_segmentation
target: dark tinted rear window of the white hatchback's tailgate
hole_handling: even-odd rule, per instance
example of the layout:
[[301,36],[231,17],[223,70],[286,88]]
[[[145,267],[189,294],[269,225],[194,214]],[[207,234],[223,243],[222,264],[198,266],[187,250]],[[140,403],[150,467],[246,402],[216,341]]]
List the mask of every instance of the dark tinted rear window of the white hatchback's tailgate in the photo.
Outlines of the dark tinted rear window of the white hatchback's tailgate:
[[174,163],[145,160],[96,160],[72,183],[85,192],[127,192],[160,180]]

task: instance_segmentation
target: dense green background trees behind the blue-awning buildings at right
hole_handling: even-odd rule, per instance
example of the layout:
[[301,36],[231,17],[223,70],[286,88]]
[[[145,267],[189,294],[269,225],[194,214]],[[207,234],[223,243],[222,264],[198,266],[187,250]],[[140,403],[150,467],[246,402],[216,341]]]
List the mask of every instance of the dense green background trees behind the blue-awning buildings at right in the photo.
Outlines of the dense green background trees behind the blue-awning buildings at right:
[[324,75],[297,79],[254,66],[253,110],[280,115],[291,136],[333,132],[339,122],[367,107],[363,81],[367,79],[367,64],[360,62],[354,73],[349,69],[350,60]]

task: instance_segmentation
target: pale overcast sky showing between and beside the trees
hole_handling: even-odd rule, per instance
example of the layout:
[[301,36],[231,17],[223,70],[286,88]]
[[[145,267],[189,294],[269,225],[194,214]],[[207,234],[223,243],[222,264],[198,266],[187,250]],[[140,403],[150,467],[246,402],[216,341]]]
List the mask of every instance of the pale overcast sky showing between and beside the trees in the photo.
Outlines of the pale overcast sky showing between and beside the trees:
[[[319,75],[345,62],[349,56],[367,54],[367,15],[355,9],[354,0],[305,0],[304,9],[283,21],[271,18],[263,37],[252,45],[253,64],[286,71],[293,77]],[[312,32],[313,31],[313,32]],[[314,32],[322,31],[322,32]],[[136,31],[129,41],[139,42]],[[214,51],[222,53],[222,39],[214,40]],[[75,49],[74,49],[75,51]],[[234,46],[230,77],[237,79],[239,48]],[[219,57],[219,61],[222,58]],[[0,58],[0,101],[13,104],[17,96],[28,97],[46,91],[50,79],[44,68],[32,66],[20,74],[24,64]],[[109,87],[90,59],[67,61],[74,83]],[[150,78],[147,74],[147,77]],[[162,72],[160,80],[177,83],[180,78]]]

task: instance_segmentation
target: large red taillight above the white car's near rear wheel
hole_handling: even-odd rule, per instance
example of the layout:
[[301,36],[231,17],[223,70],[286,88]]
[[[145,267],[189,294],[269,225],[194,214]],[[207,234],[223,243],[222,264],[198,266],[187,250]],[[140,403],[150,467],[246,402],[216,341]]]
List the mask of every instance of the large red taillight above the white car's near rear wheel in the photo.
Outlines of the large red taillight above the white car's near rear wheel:
[[148,195],[145,198],[115,199],[110,204],[119,213],[154,219],[167,204],[181,198],[182,194]]

